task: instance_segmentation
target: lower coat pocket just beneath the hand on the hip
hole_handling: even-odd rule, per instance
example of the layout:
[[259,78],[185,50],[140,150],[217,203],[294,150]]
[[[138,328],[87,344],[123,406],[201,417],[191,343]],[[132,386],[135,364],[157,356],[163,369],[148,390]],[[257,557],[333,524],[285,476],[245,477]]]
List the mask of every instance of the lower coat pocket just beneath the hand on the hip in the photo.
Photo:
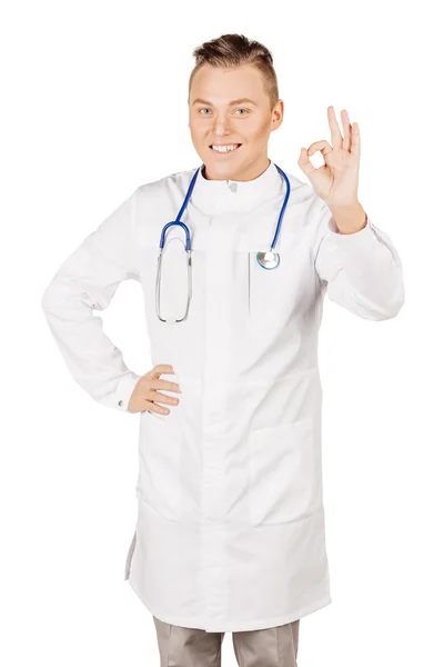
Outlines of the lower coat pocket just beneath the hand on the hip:
[[172,521],[181,517],[182,452],[182,432],[169,416],[141,412],[138,498]]

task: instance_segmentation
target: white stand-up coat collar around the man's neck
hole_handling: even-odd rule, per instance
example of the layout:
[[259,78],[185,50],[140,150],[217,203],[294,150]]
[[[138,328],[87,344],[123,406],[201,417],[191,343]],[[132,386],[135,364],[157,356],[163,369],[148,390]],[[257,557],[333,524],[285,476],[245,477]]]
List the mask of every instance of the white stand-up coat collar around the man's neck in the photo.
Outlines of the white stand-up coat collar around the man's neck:
[[199,168],[190,202],[204,215],[250,211],[284,191],[285,183],[271,160],[269,167],[249,181],[210,180]]

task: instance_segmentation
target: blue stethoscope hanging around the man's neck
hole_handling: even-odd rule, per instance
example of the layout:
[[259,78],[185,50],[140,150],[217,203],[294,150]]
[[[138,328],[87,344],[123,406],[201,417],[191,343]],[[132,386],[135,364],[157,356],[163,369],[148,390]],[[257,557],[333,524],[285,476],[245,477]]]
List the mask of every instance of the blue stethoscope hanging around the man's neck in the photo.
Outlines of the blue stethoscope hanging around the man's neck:
[[[274,247],[278,243],[278,238],[279,238],[279,233],[281,231],[281,223],[282,223],[282,218],[284,216],[285,212],[285,208],[286,208],[286,203],[289,201],[289,197],[290,197],[290,191],[291,191],[291,186],[290,186],[290,181],[289,178],[286,176],[286,173],[280,168],[278,167],[276,163],[274,163],[275,168],[278,169],[278,171],[281,173],[281,176],[283,177],[284,181],[285,181],[285,186],[286,186],[286,192],[285,192],[285,197],[284,197],[284,201],[281,208],[281,212],[279,215],[278,218],[278,223],[276,223],[276,229],[274,232],[274,237],[270,247],[269,251],[265,252],[256,252],[256,260],[260,267],[262,267],[263,269],[275,269],[280,261],[281,258],[279,256],[279,252],[274,252]],[[201,166],[202,167],[202,166]],[[186,206],[188,206],[188,201],[191,197],[191,193],[193,191],[194,188],[194,183],[195,183],[195,179],[199,176],[199,170],[201,169],[201,167],[199,167],[195,170],[195,173],[193,175],[193,178],[191,179],[190,186],[188,188],[186,195],[185,195],[185,199],[183,200],[182,207],[178,213],[178,217],[175,220],[173,220],[172,222],[167,222],[167,225],[163,227],[162,229],[162,233],[160,236],[160,243],[159,243],[159,257],[158,257],[158,272],[157,272],[157,278],[155,278],[155,312],[158,315],[158,318],[162,321],[162,322],[169,322],[169,323],[174,323],[174,322],[181,322],[183,321],[186,316],[188,316],[188,311],[190,308],[190,300],[191,300],[191,238],[190,238],[190,229],[188,228],[188,226],[181,221],[181,217],[183,215],[183,211],[185,210]],[[185,232],[185,237],[186,237],[186,242],[185,242],[185,251],[186,251],[186,256],[188,256],[188,299],[186,299],[186,310],[183,317],[181,317],[180,319],[163,319],[160,316],[160,279],[161,279],[161,265],[162,265],[162,257],[163,257],[163,251],[164,251],[164,247],[165,247],[165,232],[169,229],[169,227],[171,227],[172,225],[179,225],[180,227],[182,227],[182,229]]]

